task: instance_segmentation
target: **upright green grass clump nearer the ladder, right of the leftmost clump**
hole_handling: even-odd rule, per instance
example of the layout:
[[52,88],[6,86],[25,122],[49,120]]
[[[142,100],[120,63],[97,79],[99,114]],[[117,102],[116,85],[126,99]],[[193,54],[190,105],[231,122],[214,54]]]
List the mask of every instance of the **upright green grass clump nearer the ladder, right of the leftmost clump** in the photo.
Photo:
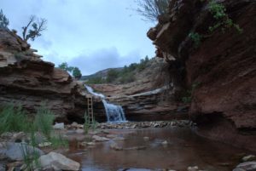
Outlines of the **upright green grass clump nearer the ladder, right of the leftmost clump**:
[[35,117],[35,128],[37,128],[38,131],[42,132],[44,136],[49,140],[50,134],[53,129],[52,125],[54,123],[55,115],[52,111],[49,111],[45,107],[45,105],[41,105],[38,110]]

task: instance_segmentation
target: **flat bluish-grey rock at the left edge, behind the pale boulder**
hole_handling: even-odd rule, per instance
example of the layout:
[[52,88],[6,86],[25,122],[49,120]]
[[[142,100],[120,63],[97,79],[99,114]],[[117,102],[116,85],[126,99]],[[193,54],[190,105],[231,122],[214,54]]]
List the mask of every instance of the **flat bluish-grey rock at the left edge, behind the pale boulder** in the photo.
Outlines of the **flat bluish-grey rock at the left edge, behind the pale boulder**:
[[25,150],[25,154],[32,154],[36,151],[40,156],[44,154],[43,151],[39,150],[38,148],[34,148],[30,145],[26,145],[23,143],[1,143],[0,145],[0,156],[6,157],[12,161],[20,161],[23,159],[23,151]]

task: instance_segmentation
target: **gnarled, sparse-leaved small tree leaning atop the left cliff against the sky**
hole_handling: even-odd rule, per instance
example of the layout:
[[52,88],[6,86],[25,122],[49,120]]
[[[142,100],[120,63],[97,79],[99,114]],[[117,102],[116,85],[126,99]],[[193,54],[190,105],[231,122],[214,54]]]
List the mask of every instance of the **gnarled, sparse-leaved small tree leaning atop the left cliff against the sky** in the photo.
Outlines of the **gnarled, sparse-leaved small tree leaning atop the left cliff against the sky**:
[[38,20],[35,15],[32,15],[27,25],[22,27],[23,40],[25,40],[26,42],[28,41],[28,39],[31,39],[32,41],[34,41],[36,37],[40,37],[41,32],[46,30],[46,24],[47,24],[47,20],[45,19]]

